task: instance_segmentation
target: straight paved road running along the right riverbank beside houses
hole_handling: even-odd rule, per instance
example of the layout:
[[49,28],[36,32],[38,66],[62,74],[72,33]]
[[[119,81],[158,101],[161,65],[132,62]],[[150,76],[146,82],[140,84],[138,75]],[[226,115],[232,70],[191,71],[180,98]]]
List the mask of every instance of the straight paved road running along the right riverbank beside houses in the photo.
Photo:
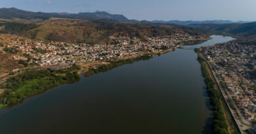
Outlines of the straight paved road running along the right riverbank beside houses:
[[[233,116],[233,118],[234,118],[236,124],[238,125],[238,129],[240,130],[240,133],[245,134],[245,133],[246,133],[245,130],[246,130],[246,129],[249,129],[250,127],[249,127],[249,126],[245,126],[243,122],[246,122],[246,123],[248,123],[248,122],[247,122],[246,120],[244,120],[244,118],[243,118],[243,116],[242,116],[241,113],[238,113],[238,114],[240,114],[240,116],[242,117],[242,122],[241,122],[241,120],[239,120],[238,116],[236,115],[235,110],[234,110],[234,109],[231,109],[230,103],[228,103],[228,101],[229,101],[229,100],[228,100],[228,96],[226,95],[226,93],[224,92],[223,88],[221,87],[221,83],[219,82],[219,79],[217,78],[217,76],[216,76],[216,74],[215,74],[215,71],[213,71],[213,69],[212,69],[212,67],[211,67],[211,64],[209,63],[209,61],[207,61],[207,60],[202,56],[202,54],[200,54],[200,57],[203,58],[203,59],[207,62],[209,68],[211,69],[211,74],[214,76],[215,81],[217,82],[217,86],[218,86],[218,88],[221,90],[221,94],[223,95],[224,100],[225,100],[225,102],[226,102],[226,105],[228,106],[228,109],[230,110],[230,112],[231,112],[231,114],[232,114],[232,116]],[[238,110],[237,107],[236,107],[236,110],[240,112],[240,110]]]

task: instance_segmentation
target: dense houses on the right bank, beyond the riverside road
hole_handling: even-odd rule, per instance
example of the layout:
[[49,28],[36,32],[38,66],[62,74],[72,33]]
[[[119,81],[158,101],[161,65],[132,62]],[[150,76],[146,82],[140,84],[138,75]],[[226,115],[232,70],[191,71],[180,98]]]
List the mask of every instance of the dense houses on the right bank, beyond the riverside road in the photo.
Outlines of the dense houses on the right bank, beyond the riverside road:
[[252,74],[256,69],[256,46],[230,41],[204,47],[202,53],[215,65],[244,118],[252,120],[256,111],[256,80]]

